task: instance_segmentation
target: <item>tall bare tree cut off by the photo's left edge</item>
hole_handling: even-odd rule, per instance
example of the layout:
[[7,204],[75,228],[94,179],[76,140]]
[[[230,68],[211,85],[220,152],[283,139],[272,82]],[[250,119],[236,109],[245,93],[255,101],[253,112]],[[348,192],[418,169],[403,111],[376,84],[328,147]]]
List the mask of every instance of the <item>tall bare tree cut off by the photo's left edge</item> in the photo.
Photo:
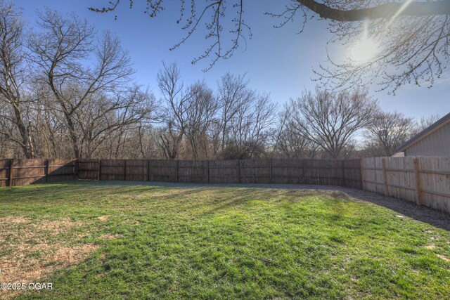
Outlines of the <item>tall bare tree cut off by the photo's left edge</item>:
[[[27,52],[23,44],[23,21],[13,6],[0,1],[0,103],[8,105],[0,118],[0,138],[20,145],[25,157],[34,157],[30,120],[25,110],[30,99],[23,93],[27,79]],[[16,134],[16,132],[18,134]]]

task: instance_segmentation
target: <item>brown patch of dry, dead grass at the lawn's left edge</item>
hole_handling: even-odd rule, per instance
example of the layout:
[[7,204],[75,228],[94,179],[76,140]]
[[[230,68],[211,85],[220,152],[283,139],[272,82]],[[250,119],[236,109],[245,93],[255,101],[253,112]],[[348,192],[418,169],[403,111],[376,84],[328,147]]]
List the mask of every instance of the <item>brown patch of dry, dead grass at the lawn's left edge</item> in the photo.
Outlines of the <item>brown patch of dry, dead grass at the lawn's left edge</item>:
[[[77,234],[72,229],[82,225],[70,219],[0,218],[0,282],[37,282],[60,268],[86,259],[98,246],[76,244]],[[75,240],[70,238],[72,233]],[[0,299],[15,295],[15,292],[2,292]]]

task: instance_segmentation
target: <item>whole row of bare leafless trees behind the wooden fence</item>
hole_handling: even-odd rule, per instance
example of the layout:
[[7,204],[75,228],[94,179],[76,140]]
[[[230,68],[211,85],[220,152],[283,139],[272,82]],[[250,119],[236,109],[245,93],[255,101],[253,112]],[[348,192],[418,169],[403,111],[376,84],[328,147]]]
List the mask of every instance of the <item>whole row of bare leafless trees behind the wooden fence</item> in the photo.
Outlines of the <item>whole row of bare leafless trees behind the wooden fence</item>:
[[[29,30],[0,12],[1,157],[242,159],[393,155],[419,122],[383,112],[366,89],[305,91],[278,107],[245,76],[185,84],[158,72],[157,98],[134,82],[120,40],[46,8]],[[364,139],[355,138],[364,133]]]

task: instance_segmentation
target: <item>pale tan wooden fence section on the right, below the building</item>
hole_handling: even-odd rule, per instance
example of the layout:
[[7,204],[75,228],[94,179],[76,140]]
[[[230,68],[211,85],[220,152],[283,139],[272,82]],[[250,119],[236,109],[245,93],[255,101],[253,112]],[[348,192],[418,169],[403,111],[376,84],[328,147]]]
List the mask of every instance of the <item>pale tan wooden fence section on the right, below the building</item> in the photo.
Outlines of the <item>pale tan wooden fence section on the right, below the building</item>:
[[450,212],[450,157],[362,159],[364,190]]

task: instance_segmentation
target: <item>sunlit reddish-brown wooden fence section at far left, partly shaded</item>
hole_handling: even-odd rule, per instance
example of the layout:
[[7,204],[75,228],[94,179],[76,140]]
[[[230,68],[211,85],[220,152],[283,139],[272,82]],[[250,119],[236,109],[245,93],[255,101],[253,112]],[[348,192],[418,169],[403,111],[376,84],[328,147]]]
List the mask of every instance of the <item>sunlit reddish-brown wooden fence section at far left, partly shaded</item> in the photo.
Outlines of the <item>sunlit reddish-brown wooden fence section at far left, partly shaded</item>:
[[76,178],[75,159],[0,159],[0,186],[69,181]]

